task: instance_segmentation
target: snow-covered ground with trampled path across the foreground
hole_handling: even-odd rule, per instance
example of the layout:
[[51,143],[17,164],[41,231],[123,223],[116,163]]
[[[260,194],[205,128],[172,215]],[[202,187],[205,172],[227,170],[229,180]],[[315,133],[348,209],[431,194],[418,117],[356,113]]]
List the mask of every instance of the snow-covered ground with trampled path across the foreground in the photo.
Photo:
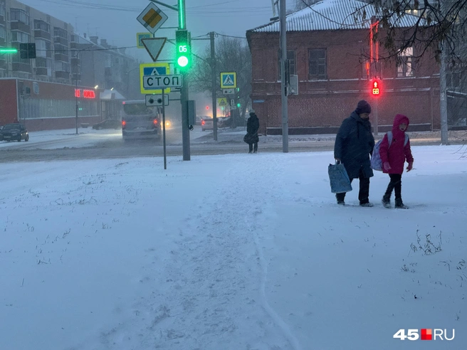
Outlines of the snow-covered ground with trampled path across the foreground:
[[0,349],[467,349],[467,149],[413,154],[409,210],[331,152],[2,164]]

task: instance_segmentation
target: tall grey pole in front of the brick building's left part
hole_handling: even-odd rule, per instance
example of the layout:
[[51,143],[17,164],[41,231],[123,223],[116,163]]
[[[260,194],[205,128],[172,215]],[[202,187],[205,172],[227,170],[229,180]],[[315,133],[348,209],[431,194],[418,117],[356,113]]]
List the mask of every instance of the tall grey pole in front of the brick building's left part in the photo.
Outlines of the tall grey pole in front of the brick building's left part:
[[287,26],[285,22],[285,0],[280,0],[280,95],[282,102],[282,152],[288,153],[288,100],[287,82],[285,77],[285,62],[287,60],[287,40],[285,33]]

